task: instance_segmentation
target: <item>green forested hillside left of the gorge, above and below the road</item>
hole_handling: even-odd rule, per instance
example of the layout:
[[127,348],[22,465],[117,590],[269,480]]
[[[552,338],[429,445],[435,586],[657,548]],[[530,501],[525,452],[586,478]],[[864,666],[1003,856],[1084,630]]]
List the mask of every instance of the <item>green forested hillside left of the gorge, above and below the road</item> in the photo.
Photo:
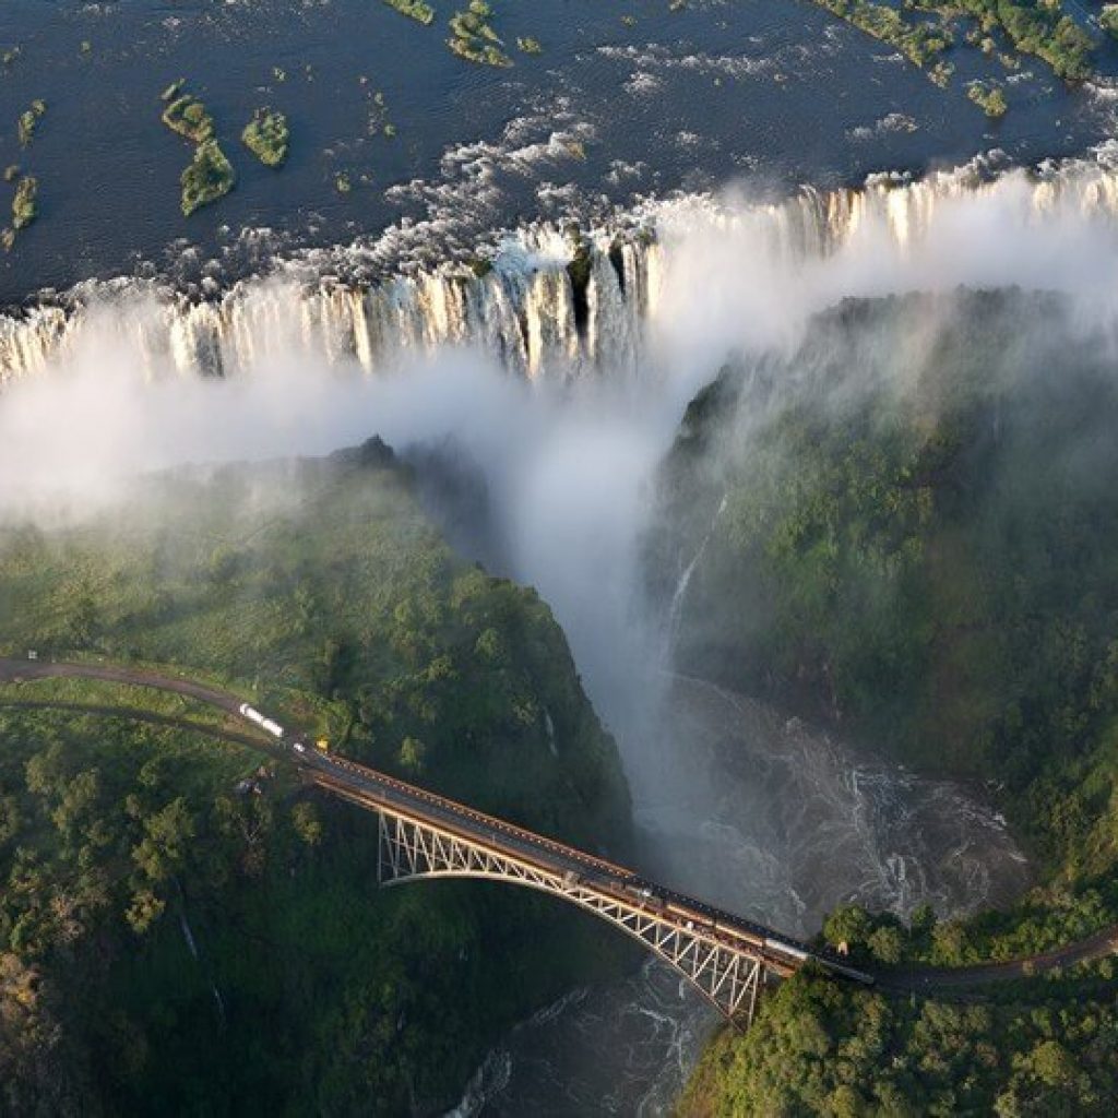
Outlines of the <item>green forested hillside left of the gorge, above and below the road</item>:
[[[219,681],[396,775],[627,842],[614,742],[550,612],[455,559],[379,444],[4,528],[0,632]],[[45,701],[124,710],[12,705]],[[140,689],[0,686],[0,1111],[430,1112],[512,1023],[628,960],[532,893],[378,892],[375,816],[228,730]]]

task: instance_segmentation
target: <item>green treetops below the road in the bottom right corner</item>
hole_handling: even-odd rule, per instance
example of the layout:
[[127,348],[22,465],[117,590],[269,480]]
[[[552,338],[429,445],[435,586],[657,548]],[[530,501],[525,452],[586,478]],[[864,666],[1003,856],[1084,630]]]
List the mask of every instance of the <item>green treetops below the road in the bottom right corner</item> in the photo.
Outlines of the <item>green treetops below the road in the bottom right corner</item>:
[[979,1004],[898,1001],[797,975],[707,1050],[680,1118],[1076,1115],[1118,1098],[1118,969]]

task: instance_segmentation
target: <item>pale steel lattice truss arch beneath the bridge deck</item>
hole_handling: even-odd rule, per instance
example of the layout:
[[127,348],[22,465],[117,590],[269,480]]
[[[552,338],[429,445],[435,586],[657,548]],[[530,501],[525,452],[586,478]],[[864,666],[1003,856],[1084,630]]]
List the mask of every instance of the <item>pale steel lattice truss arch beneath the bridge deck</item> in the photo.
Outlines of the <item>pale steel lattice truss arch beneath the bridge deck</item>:
[[643,944],[730,1021],[752,1021],[770,966],[746,940],[730,944],[671,910],[627,900],[574,872],[560,873],[380,807],[383,885],[426,878],[480,878],[542,890],[593,912]]

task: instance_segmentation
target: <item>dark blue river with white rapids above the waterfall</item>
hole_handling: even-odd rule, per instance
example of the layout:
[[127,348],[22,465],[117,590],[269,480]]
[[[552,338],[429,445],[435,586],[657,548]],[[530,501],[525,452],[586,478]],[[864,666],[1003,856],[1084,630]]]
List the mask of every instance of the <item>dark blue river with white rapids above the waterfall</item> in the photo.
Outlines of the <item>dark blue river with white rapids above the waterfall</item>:
[[[446,49],[456,7],[436,0],[423,27],[381,0],[8,0],[0,47],[21,54],[0,73],[0,162],[39,178],[40,218],[0,257],[0,301],[138,272],[227,281],[281,248],[358,239],[371,264],[395,268],[466,254],[494,227],[740,176],[757,189],[834,184],[991,146],[1035,161],[1111,134],[1118,104],[1106,79],[1069,91],[1027,59],[1007,74],[969,48],[941,91],[807,0],[679,12],[667,0],[496,0],[511,69]],[[519,54],[518,36],[543,55]],[[1114,48],[1100,60],[1118,69]],[[974,76],[1007,80],[1002,122],[967,101]],[[239,177],[189,219],[178,179],[190,146],[159,120],[178,77],[210,107]],[[395,139],[369,135],[377,92]],[[16,117],[36,97],[49,108],[21,151]],[[291,121],[280,171],[238,140],[263,104]],[[348,196],[334,188],[343,171]]]

